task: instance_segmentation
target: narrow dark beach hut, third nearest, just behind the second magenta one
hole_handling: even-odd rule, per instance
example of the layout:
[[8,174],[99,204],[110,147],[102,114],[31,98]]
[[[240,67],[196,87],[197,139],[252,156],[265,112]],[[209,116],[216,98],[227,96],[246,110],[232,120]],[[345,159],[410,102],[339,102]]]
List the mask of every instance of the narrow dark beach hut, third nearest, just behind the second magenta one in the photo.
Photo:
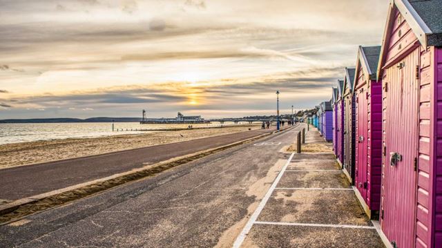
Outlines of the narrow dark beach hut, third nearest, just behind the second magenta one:
[[343,86],[344,104],[344,173],[354,184],[355,99],[353,94],[355,68],[345,68]]

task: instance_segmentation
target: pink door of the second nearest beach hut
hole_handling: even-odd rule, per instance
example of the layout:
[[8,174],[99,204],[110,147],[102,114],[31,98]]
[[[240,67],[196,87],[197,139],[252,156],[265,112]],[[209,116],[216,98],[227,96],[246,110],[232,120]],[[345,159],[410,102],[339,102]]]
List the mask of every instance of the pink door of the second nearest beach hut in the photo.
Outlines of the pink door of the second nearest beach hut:
[[362,197],[365,202],[367,202],[367,90],[365,87],[358,90],[357,93],[358,101],[358,131],[356,136],[356,144],[358,145],[358,168],[357,171],[357,182],[356,187],[358,191],[361,192]]

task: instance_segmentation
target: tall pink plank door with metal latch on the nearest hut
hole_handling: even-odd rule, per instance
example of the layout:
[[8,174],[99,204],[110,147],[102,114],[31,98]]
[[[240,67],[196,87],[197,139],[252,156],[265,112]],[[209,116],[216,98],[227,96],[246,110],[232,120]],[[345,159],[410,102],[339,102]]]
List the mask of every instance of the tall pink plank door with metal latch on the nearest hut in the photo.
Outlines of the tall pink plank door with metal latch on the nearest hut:
[[[397,247],[414,247],[419,131],[419,48],[387,70],[384,82],[385,150],[381,221]],[[390,78],[389,78],[390,77]]]

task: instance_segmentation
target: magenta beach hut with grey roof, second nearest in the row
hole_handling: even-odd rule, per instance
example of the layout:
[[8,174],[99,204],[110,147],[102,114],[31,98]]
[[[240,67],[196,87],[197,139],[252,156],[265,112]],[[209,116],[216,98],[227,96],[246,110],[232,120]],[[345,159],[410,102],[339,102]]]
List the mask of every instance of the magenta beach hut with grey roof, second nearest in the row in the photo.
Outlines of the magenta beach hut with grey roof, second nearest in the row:
[[359,46],[353,93],[356,97],[355,187],[367,215],[381,205],[382,84],[376,81],[381,46]]

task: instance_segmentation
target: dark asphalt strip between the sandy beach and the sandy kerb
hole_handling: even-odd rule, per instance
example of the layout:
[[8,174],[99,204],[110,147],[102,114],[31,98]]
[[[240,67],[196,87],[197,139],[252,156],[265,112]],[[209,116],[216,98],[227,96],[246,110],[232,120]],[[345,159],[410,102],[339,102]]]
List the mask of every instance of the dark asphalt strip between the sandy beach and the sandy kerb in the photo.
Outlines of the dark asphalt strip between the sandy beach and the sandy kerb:
[[18,200],[63,189],[116,173],[131,171],[142,167],[143,163],[162,162],[182,155],[246,140],[270,131],[274,130],[247,131],[84,158],[1,169],[0,199]]

